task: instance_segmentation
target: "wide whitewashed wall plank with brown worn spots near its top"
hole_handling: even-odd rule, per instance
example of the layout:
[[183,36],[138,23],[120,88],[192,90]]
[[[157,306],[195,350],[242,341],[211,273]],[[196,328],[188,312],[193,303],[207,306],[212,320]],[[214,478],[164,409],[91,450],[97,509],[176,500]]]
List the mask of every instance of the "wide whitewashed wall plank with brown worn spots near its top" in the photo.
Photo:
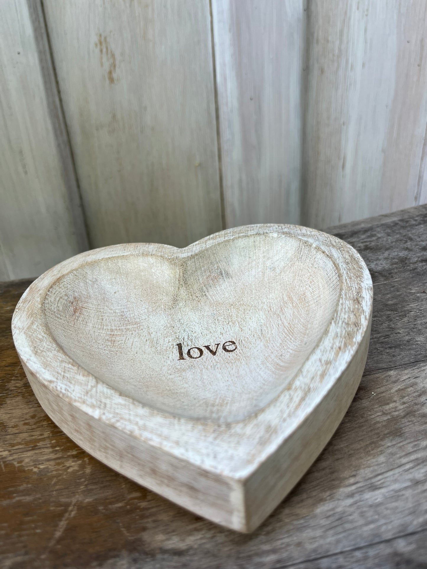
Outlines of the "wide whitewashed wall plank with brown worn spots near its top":
[[220,230],[208,0],[44,7],[92,244]]

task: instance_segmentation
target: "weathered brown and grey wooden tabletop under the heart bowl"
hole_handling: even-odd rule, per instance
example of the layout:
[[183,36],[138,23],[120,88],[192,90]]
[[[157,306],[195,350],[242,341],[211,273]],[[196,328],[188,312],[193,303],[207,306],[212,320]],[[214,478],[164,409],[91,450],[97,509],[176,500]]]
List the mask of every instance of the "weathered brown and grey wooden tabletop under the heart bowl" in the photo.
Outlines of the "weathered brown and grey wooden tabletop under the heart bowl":
[[0,566],[427,567],[427,206],[332,228],[374,283],[362,383],[331,442],[251,535],[93,459],[39,406],[0,284]]

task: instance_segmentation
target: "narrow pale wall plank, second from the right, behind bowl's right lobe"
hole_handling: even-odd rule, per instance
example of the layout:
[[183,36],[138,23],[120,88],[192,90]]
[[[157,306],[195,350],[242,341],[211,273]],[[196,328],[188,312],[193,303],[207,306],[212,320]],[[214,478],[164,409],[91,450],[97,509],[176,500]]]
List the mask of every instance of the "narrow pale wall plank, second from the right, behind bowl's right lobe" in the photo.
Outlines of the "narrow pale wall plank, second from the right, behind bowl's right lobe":
[[302,0],[212,0],[227,226],[298,223]]

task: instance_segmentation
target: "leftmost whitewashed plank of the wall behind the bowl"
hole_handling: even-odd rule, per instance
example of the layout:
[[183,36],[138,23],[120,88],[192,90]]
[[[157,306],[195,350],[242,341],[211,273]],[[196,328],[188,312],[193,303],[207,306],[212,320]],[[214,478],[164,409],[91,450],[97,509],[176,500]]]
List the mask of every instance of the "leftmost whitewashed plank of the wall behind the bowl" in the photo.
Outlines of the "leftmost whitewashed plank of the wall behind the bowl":
[[0,193],[0,280],[81,250],[25,0],[0,3]]

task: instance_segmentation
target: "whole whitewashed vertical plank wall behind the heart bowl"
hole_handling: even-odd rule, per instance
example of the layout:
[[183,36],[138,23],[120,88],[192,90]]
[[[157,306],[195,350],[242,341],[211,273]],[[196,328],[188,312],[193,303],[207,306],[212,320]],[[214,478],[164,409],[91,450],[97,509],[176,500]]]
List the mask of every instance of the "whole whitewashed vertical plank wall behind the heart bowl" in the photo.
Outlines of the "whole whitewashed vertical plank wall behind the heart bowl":
[[427,3],[0,2],[0,280],[427,202]]

